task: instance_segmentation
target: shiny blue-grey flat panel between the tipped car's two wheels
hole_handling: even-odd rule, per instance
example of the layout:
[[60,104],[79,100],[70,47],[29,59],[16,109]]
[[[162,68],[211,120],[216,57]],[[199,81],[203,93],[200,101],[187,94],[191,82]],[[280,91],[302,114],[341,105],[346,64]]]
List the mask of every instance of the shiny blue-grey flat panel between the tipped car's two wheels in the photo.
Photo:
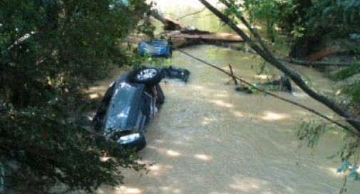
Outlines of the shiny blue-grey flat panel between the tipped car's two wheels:
[[125,82],[117,86],[108,108],[104,131],[106,134],[113,130],[125,129],[130,112],[130,104],[133,101],[135,92],[136,87]]

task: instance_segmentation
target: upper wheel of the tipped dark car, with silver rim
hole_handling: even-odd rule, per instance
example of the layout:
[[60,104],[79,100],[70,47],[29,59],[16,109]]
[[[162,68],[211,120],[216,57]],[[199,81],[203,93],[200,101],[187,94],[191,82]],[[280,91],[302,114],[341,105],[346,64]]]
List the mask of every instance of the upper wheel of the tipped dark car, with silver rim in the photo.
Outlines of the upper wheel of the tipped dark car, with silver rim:
[[152,87],[157,85],[161,81],[162,77],[159,70],[155,68],[141,68],[139,70],[135,70],[133,74],[130,75],[130,79],[130,81]]

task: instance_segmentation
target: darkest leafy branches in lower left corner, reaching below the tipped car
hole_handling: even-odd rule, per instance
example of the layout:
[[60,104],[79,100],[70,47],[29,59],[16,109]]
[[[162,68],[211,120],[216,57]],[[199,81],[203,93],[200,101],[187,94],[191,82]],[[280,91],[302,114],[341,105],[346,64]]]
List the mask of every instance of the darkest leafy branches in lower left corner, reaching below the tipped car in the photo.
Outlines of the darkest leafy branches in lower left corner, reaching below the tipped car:
[[[10,137],[1,139],[1,159],[10,188],[20,183],[27,190],[41,193],[61,183],[71,190],[91,192],[101,184],[122,183],[119,167],[144,167],[134,161],[136,156],[131,151],[91,136],[57,114],[46,114],[44,109],[9,112],[0,122],[4,127],[1,136]],[[113,158],[101,161],[106,156]]]

